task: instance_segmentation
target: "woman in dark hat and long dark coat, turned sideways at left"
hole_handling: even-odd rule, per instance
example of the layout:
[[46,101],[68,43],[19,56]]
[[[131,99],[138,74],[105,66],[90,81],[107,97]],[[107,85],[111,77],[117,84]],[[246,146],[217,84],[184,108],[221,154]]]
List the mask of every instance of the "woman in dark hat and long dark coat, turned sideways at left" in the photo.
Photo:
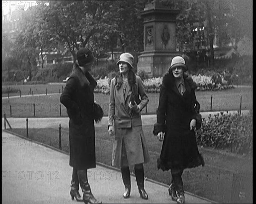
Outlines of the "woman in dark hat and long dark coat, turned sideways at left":
[[[93,89],[97,82],[89,73],[95,57],[86,48],[79,49],[76,55],[78,64],[74,63],[60,98],[70,118],[70,166],[73,167],[70,195],[72,200],[97,204],[100,202],[91,192],[87,169],[96,167],[94,121],[101,120],[103,110],[94,102]],[[83,198],[79,194],[79,184]]]

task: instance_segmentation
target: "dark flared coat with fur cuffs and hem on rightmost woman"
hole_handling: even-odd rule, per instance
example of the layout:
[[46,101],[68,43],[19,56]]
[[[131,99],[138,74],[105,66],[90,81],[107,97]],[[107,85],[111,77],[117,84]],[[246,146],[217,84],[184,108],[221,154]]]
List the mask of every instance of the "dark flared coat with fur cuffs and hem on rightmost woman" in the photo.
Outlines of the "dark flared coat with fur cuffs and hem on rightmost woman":
[[[175,85],[172,74],[163,77],[160,88],[157,123],[154,125],[154,135],[165,132],[158,169],[163,171],[186,169],[204,166],[204,158],[198,152],[195,132],[189,130],[192,119],[196,120],[197,129],[201,127],[200,104],[196,100],[196,83],[184,74],[186,91],[183,95]],[[197,108],[197,109],[196,109]]]

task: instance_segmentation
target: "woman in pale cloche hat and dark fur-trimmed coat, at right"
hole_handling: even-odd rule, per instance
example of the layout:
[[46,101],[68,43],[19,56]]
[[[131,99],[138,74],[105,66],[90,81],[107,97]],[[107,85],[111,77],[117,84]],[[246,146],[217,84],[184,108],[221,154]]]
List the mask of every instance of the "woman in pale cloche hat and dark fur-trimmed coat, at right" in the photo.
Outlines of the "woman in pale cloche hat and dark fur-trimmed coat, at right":
[[163,140],[157,168],[171,170],[172,181],[168,190],[177,203],[185,200],[181,178],[183,170],[204,166],[194,131],[201,127],[200,104],[195,97],[196,83],[185,71],[187,66],[183,57],[174,57],[169,73],[163,77],[153,131],[160,141]]

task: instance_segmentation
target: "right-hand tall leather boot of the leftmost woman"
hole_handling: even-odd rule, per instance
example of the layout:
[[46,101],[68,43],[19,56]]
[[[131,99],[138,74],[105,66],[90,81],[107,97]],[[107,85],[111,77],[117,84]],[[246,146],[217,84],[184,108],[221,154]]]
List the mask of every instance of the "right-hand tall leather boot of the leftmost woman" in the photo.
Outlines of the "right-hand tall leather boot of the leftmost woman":
[[81,189],[83,191],[83,201],[85,204],[100,204],[101,201],[97,201],[93,196],[90,189],[90,184],[88,183],[87,170],[78,170],[78,178]]

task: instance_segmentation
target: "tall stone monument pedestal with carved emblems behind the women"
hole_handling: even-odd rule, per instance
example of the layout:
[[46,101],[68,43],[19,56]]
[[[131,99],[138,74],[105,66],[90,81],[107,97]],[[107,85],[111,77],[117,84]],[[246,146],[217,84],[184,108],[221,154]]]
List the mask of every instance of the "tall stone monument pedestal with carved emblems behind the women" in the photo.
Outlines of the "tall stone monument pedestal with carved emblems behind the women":
[[176,51],[177,1],[154,0],[146,4],[141,16],[144,21],[144,51],[138,57],[137,72],[149,77],[163,76],[171,65]]

